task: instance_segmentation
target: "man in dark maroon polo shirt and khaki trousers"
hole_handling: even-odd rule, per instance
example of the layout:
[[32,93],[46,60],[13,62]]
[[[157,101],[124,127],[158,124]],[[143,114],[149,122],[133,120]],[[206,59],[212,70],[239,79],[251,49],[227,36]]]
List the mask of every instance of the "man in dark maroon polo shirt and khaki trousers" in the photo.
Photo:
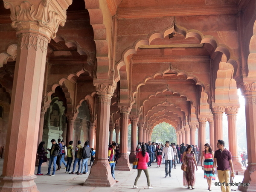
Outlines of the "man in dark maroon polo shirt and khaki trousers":
[[[221,183],[230,183],[230,168],[231,168],[231,177],[235,177],[232,155],[230,151],[225,148],[225,142],[223,140],[218,140],[217,143],[218,150],[214,153],[214,162],[212,173],[215,173],[214,167],[218,165],[218,180]],[[221,185],[221,192],[231,192],[231,187],[228,185]]]

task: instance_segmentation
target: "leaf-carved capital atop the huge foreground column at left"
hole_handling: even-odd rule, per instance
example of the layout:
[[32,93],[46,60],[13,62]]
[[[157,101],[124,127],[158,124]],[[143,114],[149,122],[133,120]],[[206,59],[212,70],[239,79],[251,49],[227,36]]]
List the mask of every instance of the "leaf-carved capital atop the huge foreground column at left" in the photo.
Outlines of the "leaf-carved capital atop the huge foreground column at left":
[[[4,0],[4,7],[10,9],[12,27],[20,33],[37,33],[44,37],[56,37],[59,26],[64,26],[67,8],[72,0]],[[48,42],[47,42],[48,44]]]

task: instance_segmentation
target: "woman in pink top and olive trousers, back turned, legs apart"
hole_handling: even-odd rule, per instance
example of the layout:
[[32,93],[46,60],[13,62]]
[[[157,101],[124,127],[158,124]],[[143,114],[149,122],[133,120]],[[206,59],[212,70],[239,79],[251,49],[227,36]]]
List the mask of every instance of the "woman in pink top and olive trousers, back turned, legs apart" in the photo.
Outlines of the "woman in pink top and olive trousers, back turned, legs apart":
[[139,161],[138,161],[138,175],[137,175],[137,177],[134,181],[133,188],[138,188],[137,187],[137,181],[140,178],[140,174],[143,170],[146,177],[147,177],[148,189],[153,189],[153,187],[150,186],[150,181],[149,181],[148,165],[147,165],[148,160],[149,160],[149,154],[146,152],[146,145],[144,145],[144,144],[141,145],[141,151],[137,153],[136,158],[139,159]]

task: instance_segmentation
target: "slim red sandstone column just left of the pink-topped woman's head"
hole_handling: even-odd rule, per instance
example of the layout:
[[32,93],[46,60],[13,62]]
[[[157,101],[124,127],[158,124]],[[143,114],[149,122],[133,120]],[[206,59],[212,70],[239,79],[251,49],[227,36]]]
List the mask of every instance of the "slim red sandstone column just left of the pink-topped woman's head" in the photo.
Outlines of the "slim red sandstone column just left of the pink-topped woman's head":
[[131,153],[129,155],[129,161],[132,163],[136,158],[136,147],[137,147],[137,123],[139,116],[131,116]]

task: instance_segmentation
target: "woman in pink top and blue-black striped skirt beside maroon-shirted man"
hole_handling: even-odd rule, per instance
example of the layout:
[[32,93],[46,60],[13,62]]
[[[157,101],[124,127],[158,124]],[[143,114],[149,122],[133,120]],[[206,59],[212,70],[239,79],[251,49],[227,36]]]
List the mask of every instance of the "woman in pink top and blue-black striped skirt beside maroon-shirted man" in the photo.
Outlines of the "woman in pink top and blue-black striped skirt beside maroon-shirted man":
[[[202,156],[201,156],[201,165],[202,165],[202,169],[204,170],[204,178],[207,179],[209,191],[212,191],[211,190],[212,180],[215,180],[215,174],[212,173],[213,157],[214,157],[214,153],[212,151],[212,148],[208,143],[206,143],[204,145],[204,151],[202,152]],[[203,158],[204,158],[204,164],[203,164]]]

